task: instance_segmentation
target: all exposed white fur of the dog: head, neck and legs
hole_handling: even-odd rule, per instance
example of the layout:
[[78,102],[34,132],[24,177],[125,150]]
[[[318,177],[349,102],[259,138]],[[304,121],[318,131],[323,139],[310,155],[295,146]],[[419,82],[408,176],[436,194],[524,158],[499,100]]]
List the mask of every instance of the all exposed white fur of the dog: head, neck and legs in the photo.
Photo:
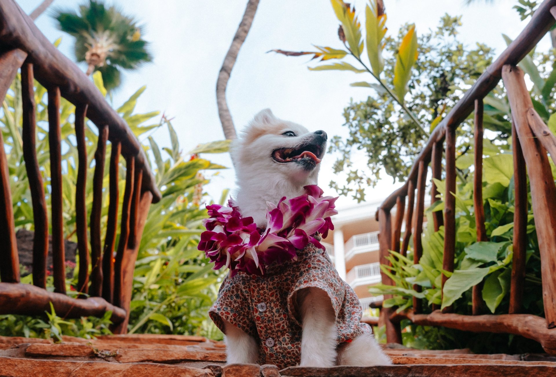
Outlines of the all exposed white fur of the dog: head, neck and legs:
[[[296,136],[282,135],[285,131],[294,131]],[[266,202],[276,204],[282,197],[294,198],[304,192],[305,185],[317,183],[320,164],[306,170],[271,158],[275,149],[296,148],[314,137],[305,127],[280,120],[269,109],[255,116],[231,148],[239,187],[236,203],[242,216],[251,216],[258,226],[265,227]],[[297,293],[296,306],[302,327],[301,366],[391,364],[373,335],[360,335],[336,351],[335,313],[326,292],[305,288]],[[257,340],[229,322],[225,330],[227,363],[256,363]]]

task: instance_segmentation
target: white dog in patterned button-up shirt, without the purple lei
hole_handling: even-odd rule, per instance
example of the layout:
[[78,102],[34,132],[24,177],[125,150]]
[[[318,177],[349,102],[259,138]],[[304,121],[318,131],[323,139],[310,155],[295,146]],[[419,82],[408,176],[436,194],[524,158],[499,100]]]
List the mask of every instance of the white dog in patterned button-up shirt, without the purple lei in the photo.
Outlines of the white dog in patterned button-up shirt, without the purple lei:
[[[264,228],[266,202],[276,204],[282,197],[297,197],[304,194],[305,185],[316,184],[326,139],[327,135],[322,130],[309,132],[299,124],[277,119],[269,109],[259,112],[231,148],[239,186],[236,203],[242,216],[251,216],[257,226]],[[257,277],[258,280],[254,278],[254,281],[259,282],[259,288],[254,288],[255,282],[251,285],[250,278],[242,278],[241,273],[234,277],[239,280],[233,282],[227,281],[230,277],[226,277],[219,292],[219,301],[211,309],[210,315],[225,332],[227,362],[270,361],[279,366],[299,364],[320,367],[391,364],[369,331],[369,326],[359,324],[360,303],[353,290],[339,278],[326,253],[314,253],[306,260],[301,257],[284,268],[294,271],[296,263],[303,261],[312,263],[309,266],[313,268],[315,265],[324,266],[319,267],[319,271],[330,267],[330,272],[326,272],[329,276],[301,289],[298,289],[299,286],[292,288],[295,291],[287,297],[282,295],[281,302],[285,307],[271,305],[268,302],[270,299],[264,298],[269,297],[269,292],[255,294],[253,291],[270,290],[275,280],[282,280],[283,283],[294,272],[281,270],[281,275],[265,275]],[[265,282],[265,279],[268,281]],[[335,285],[332,286],[331,282],[335,282]],[[336,293],[342,302],[335,301],[336,296],[331,297]],[[242,300],[245,302],[238,302]],[[266,303],[259,302],[265,300]],[[250,316],[256,320],[244,318]],[[264,316],[271,317],[265,320]],[[253,324],[252,321],[261,323]],[[301,327],[299,330],[286,331],[285,326],[290,325],[283,323],[288,321],[292,323],[291,326]],[[265,327],[265,324],[269,326]],[[353,329],[346,330],[350,326]],[[354,331],[351,332],[353,337],[342,337],[342,331],[348,330]],[[292,331],[298,334],[292,334]],[[288,338],[299,335],[300,342]]]

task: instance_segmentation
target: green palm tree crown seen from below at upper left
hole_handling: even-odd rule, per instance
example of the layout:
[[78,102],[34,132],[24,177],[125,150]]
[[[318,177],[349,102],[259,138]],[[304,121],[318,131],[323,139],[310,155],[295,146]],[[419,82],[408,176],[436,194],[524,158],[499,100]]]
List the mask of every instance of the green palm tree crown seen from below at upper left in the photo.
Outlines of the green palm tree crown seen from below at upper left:
[[122,69],[135,70],[152,61],[133,18],[105,7],[102,0],[89,0],[79,12],[57,11],[54,18],[60,30],[76,37],[75,56],[87,63],[87,75],[100,71],[107,90],[120,85]]

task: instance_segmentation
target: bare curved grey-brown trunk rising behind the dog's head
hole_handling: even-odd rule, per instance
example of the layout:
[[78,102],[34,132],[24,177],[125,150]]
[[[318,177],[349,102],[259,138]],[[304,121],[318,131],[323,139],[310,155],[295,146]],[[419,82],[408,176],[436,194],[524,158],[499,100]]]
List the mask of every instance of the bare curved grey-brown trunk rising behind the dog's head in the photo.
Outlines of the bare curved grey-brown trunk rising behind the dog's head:
[[259,6],[259,0],[249,0],[249,2],[247,2],[244,16],[241,19],[240,26],[237,28],[234,40],[232,40],[230,50],[226,53],[224,63],[222,63],[222,68],[220,68],[218,81],[216,81],[216,104],[218,105],[218,115],[220,116],[222,130],[224,131],[226,139],[236,138],[234,121],[232,121],[232,116],[230,115],[230,110],[226,102],[226,86],[228,85],[228,80],[230,80],[230,74],[232,68],[234,68],[237,54],[240,52],[241,45],[245,42],[247,33],[249,33],[249,29],[251,28],[257,6]]

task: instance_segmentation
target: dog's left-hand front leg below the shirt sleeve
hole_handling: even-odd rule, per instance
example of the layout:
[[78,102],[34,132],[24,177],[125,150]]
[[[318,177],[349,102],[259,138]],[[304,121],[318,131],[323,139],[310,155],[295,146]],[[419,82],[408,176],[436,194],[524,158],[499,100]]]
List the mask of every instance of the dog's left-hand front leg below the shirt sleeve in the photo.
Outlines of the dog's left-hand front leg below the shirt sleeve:
[[257,364],[259,359],[259,345],[257,341],[230,322],[226,326],[226,356],[228,364]]

